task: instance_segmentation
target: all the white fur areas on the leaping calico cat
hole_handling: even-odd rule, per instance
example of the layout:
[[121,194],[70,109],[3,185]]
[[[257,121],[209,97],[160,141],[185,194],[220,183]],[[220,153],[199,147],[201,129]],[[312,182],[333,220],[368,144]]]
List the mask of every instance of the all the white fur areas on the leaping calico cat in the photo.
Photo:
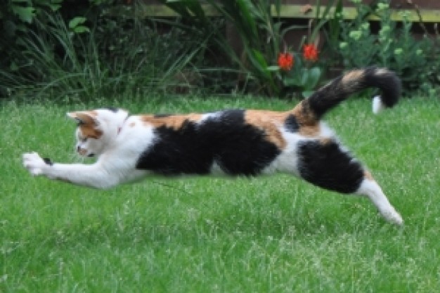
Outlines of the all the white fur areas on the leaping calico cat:
[[[375,100],[380,102],[380,98],[376,97]],[[376,111],[379,108],[377,106],[373,110]],[[216,114],[207,114],[202,119],[213,115]],[[103,136],[97,140],[82,141],[81,134],[79,130],[77,131],[77,151],[84,156],[96,155],[98,159],[94,164],[46,164],[37,152],[30,152],[23,155],[24,166],[34,176],[43,175],[51,179],[93,188],[111,188],[120,183],[134,181],[150,174],[149,171],[136,169],[136,162],[141,154],[155,141],[153,126],[143,122],[140,116],[128,117],[127,112],[124,111],[115,113],[109,110],[98,110],[96,127],[103,131]],[[320,132],[318,136],[313,137],[302,136],[299,133],[286,131],[283,126],[279,127],[287,145],[280,155],[262,171],[263,174],[284,172],[298,176],[298,143],[300,141],[335,138],[332,129],[323,122],[319,124]],[[224,174],[224,171],[216,162],[212,165],[211,171],[212,174]],[[403,223],[401,216],[389,203],[375,181],[365,178],[356,193],[366,195],[388,221],[399,225]]]

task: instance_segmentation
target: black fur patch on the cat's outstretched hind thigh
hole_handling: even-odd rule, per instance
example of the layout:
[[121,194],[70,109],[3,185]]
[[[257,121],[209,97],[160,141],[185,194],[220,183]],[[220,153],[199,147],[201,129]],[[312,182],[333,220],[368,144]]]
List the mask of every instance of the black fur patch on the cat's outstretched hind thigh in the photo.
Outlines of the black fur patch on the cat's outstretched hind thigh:
[[306,181],[339,193],[354,193],[363,181],[363,167],[334,141],[301,143],[299,174]]

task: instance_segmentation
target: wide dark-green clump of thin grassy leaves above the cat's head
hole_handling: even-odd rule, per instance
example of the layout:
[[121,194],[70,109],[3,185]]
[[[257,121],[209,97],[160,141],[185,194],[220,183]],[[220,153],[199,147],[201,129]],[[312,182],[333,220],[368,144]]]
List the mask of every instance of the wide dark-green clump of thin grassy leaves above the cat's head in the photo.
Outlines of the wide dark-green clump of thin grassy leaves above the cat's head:
[[87,18],[64,9],[41,10],[17,32],[16,42],[3,38],[8,56],[0,66],[3,93],[25,88],[87,99],[186,83],[182,72],[192,67],[203,40],[179,27],[160,34],[155,22],[132,17],[134,6],[113,17],[107,13],[111,6],[102,2],[100,12],[84,12]]

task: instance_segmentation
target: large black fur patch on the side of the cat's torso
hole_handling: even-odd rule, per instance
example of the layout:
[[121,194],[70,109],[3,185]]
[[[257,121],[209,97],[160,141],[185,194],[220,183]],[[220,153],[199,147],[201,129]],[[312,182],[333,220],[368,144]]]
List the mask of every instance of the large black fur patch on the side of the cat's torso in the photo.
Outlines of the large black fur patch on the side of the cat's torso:
[[158,174],[209,174],[216,162],[226,174],[257,175],[280,153],[263,131],[245,124],[244,110],[226,110],[180,129],[160,126],[157,141],[136,164]]

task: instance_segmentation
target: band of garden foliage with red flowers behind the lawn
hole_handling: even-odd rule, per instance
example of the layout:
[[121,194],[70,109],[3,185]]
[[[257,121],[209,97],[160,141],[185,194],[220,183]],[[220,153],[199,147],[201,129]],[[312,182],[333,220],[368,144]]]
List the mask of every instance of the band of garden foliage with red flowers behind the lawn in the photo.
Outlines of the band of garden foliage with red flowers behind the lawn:
[[[351,0],[354,20],[344,19],[342,0],[317,0],[309,22],[280,18],[280,0],[160,2],[179,16],[143,18],[149,6],[141,0],[2,2],[0,96],[203,89],[304,97],[329,69],[369,65],[389,67],[406,89],[432,96],[440,82],[436,39],[416,39],[418,24],[405,14],[392,20],[384,0]],[[290,44],[287,34],[301,41]]]

